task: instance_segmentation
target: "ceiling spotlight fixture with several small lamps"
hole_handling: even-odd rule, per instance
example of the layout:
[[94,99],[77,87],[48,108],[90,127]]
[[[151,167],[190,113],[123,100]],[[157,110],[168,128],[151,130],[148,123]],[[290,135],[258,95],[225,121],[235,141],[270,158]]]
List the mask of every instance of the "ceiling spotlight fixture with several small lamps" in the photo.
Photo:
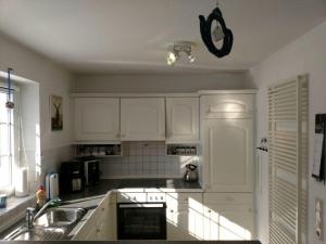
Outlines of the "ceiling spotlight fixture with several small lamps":
[[196,57],[192,54],[193,43],[190,41],[178,41],[168,46],[168,53],[166,56],[166,63],[174,65],[183,56],[186,56],[188,63],[193,63]]

